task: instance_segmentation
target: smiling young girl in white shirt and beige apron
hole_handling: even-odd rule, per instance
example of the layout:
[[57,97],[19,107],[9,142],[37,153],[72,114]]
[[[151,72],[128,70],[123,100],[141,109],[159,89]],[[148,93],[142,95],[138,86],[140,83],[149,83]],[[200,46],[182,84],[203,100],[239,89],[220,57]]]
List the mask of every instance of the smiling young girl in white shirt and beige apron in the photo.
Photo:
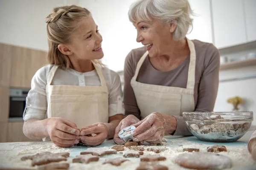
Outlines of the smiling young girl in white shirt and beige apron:
[[54,8],[46,23],[50,65],[32,78],[23,133],[60,147],[79,140],[96,146],[113,138],[124,114],[121,82],[98,60],[102,36],[90,11],[74,5]]

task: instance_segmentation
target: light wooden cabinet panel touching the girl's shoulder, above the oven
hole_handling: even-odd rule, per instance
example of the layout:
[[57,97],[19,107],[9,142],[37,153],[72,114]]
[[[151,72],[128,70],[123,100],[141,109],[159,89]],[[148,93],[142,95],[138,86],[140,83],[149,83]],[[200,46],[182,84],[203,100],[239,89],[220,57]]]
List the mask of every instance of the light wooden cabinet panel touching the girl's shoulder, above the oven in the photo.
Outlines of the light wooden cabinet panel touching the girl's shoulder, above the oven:
[[35,72],[46,64],[47,52],[15,47],[12,55],[10,86],[30,88]]

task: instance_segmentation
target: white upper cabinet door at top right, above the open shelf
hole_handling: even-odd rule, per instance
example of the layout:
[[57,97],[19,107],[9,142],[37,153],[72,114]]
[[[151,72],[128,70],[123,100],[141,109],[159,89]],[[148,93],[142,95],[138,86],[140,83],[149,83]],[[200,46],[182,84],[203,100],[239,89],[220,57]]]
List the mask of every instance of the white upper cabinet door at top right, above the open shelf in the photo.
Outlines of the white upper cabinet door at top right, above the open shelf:
[[247,42],[243,0],[211,2],[215,46],[225,48]]

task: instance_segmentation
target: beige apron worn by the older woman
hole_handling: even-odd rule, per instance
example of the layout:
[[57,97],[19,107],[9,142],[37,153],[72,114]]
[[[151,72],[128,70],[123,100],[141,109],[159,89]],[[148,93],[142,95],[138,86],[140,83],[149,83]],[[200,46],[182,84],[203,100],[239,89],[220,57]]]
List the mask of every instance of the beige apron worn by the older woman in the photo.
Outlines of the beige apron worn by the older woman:
[[[194,85],[195,85],[195,46],[188,40],[190,50],[189,72],[186,88],[169,87],[162,85],[150,85],[137,82],[140,67],[148,51],[139,60],[135,75],[131,79],[137,105],[140,109],[140,119],[144,119],[152,112],[160,112],[170,116],[182,116],[183,112],[194,111]],[[182,77],[180,77],[182,79]]]

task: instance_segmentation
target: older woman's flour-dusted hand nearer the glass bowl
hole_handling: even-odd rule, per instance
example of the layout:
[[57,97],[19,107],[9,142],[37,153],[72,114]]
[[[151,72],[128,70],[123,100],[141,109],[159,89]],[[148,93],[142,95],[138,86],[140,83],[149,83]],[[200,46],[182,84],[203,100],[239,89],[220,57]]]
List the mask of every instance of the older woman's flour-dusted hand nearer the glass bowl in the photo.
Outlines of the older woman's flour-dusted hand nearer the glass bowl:
[[166,127],[163,114],[151,113],[133,126],[136,127],[132,134],[134,142],[162,143]]

